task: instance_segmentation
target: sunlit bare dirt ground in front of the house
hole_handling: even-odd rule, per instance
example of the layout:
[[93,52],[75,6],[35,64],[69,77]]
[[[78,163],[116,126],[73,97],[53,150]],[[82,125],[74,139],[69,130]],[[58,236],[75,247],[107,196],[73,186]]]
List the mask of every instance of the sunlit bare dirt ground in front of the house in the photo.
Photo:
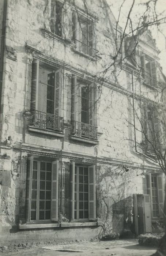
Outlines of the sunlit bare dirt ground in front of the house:
[[155,248],[140,246],[138,240],[68,242],[67,244],[38,245],[15,252],[3,252],[3,256],[150,256]]

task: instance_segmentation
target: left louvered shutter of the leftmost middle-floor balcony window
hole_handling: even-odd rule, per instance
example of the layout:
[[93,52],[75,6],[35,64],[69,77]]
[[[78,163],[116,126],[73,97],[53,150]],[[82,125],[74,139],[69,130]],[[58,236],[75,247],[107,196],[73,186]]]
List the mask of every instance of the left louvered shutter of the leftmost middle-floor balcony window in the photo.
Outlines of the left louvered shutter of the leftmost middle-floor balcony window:
[[39,82],[39,61],[32,63],[32,83],[31,83],[31,110],[38,109],[38,82]]

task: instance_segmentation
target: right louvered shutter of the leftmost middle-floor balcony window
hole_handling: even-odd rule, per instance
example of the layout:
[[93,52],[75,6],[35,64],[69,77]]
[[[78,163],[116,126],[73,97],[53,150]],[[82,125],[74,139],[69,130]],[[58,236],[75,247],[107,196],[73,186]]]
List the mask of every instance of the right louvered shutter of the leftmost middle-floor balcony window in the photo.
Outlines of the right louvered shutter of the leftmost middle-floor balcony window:
[[54,88],[54,114],[56,116],[61,116],[61,84],[62,84],[62,74],[61,69],[55,71],[55,88]]

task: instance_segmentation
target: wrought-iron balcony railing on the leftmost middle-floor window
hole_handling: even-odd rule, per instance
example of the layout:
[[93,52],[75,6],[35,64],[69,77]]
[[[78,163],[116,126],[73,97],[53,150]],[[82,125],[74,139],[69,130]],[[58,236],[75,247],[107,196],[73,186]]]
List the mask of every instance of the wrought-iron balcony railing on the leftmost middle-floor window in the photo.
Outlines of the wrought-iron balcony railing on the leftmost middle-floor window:
[[54,114],[45,113],[38,110],[31,111],[33,118],[32,118],[32,125],[41,129],[45,130],[52,130],[63,132],[63,124],[64,119],[63,117],[56,116]]

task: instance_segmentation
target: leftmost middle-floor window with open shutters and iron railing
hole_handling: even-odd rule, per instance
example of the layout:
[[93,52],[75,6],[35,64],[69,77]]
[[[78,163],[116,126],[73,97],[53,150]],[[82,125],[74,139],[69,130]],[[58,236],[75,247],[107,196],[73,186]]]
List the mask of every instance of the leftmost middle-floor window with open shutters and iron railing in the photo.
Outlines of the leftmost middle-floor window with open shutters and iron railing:
[[31,113],[33,126],[53,131],[63,131],[60,117],[61,70],[39,63],[32,64]]

